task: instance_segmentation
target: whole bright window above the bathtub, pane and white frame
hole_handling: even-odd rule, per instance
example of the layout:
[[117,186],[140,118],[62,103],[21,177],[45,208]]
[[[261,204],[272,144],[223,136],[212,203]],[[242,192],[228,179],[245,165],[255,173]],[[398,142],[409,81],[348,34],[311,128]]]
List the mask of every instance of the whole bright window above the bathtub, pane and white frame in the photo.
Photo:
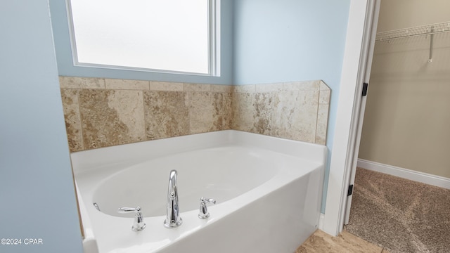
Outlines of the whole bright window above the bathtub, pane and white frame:
[[68,0],[77,66],[219,76],[219,0]]

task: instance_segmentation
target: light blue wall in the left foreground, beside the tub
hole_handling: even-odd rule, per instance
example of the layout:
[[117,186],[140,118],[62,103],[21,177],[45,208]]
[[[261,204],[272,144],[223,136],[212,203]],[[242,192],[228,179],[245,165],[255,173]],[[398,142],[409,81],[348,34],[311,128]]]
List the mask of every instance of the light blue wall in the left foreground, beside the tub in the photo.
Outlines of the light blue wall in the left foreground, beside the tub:
[[82,252],[48,1],[1,1],[0,34],[0,252]]

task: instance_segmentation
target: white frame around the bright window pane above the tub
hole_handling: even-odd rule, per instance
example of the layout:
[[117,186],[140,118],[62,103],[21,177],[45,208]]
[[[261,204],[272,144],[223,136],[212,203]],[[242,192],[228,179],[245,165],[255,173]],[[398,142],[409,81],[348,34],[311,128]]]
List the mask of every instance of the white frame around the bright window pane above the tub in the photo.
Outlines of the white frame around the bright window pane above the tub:
[[72,20],[72,10],[70,3],[71,0],[66,0],[67,12],[68,12],[68,22],[69,22],[69,33],[70,33],[70,46],[72,49],[72,62],[76,67],[94,67],[110,70],[131,70],[131,71],[143,71],[143,72],[155,72],[155,73],[167,73],[167,74],[189,74],[189,75],[199,75],[199,76],[209,76],[209,77],[220,77],[220,20],[221,20],[221,0],[208,0],[208,73],[197,73],[197,72],[184,72],[184,71],[174,71],[174,70],[160,70],[160,69],[150,69],[143,67],[128,67],[128,66],[117,66],[117,65],[103,65],[96,63],[80,63],[77,56],[77,44],[75,40],[75,29]]

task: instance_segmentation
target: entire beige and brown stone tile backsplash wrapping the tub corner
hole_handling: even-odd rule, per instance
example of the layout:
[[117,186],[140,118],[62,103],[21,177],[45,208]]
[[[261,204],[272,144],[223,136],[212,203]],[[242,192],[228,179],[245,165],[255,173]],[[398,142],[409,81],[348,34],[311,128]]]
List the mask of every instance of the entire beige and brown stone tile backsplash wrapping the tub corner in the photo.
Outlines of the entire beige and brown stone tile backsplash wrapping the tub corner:
[[60,77],[71,152],[226,129],[326,143],[320,80],[244,86]]

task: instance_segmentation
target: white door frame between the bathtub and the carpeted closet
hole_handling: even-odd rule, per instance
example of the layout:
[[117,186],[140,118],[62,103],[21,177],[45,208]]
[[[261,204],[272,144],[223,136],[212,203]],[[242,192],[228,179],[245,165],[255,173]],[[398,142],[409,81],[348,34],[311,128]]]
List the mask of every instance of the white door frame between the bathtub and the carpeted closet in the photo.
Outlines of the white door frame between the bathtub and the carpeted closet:
[[[361,92],[373,22],[378,22],[380,0],[351,0],[347,38],[340,79],[338,112],[328,176],[325,215],[322,229],[330,235],[342,232],[347,207],[347,189],[358,153]],[[378,7],[377,7],[378,6]],[[376,27],[376,25],[375,25]],[[370,66],[369,66],[370,68]],[[356,153],[355,153],[356,150]]]

